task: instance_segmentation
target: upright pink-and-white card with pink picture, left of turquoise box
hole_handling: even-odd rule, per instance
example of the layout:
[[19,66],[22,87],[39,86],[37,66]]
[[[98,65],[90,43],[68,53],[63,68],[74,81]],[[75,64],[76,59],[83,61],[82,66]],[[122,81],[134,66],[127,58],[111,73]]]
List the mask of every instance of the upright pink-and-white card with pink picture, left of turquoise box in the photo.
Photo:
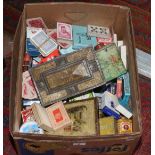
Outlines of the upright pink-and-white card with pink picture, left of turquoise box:
[[72,40],[72,25],[58,22],[57,37],[60,39]]

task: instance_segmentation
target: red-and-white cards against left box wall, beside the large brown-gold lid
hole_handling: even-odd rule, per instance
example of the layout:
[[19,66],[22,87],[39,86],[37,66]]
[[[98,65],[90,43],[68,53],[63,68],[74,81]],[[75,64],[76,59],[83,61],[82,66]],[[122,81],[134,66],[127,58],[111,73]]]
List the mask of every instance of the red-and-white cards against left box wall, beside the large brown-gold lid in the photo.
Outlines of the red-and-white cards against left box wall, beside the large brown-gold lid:
[[24,99],[38,98],[34,84],[28,71],[23,72],[22,97]]

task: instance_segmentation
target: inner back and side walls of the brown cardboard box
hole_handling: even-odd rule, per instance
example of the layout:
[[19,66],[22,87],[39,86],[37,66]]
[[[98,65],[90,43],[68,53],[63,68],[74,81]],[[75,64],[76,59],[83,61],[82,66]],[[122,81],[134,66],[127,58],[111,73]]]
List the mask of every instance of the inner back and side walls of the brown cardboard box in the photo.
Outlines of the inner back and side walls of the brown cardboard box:
[[[121,6],[85,4],[85,3],[43,3],[43,4],[26,4],[23,11],[21,22],[20,40],[18,42],[20,51],[18,58],[17,83],[14,106],[14,118],[12,123],[13,132],[19,132],[21,124],[22,109],[21,89],[22,89],[22,63],[25,52],[25,28],[27,18],[42,17],[48,28],[55,28],[57,21],[66,22],[76,25],[98,25],[111,26],[114,32],[118,34],[118,40],[123,40],[127,46],[127,63],[130,73],[131,84],[131,105],[133,110],[133,133],[140,132],[140,113],[139,113],[139,95],[137,84],[136,63],[134,57],[134,45],[132,38],[132,29],[130,25],[129,9]],[[18,30],[19,31],[19,30]],[[19,37],[19,36],[18,36]],[[18,92],[18,93],[17,93]]]

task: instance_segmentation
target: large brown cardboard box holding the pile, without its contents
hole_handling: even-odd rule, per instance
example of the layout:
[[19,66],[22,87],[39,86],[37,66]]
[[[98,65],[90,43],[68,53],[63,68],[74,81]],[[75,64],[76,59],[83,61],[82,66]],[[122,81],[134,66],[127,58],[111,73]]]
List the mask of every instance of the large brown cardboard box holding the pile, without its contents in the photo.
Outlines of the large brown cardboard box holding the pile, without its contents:
[[[77,25],[112,26],[118,38],[127,45],[127,64],[131,81],[133,133],[113,136],[64,137],[19,133],[22,90],[22,64],[25,52],[27,18],[42,17],[49,28],[56,22]],[[141,108],[135,43],[130,9],[122,6],[90,3],[37,3],[26,4],[14,38],[10,92],[10,133],[18,154],[22,155],[131,155],[142,134]],[[63,153],[62,153],[63,152]]]

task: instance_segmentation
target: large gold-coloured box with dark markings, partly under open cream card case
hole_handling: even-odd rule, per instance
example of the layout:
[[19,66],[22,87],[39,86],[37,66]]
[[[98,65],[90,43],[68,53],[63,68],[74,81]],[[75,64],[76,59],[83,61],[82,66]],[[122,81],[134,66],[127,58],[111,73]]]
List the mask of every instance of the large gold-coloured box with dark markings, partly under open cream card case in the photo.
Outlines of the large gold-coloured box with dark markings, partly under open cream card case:
[[63,136],[98,135],[98,104],[94,98],[65,103],[64,106],[73,123],[71,126],[47,134]]

